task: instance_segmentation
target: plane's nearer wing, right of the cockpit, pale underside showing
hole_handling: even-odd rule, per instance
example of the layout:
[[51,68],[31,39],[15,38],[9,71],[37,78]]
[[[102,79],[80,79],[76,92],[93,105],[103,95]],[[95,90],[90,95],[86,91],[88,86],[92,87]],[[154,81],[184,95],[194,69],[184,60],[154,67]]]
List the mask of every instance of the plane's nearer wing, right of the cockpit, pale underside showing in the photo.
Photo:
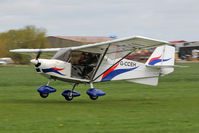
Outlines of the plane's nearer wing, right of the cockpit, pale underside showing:
[[160,45],[168,44],[167,41],[155,40],[151,38],[135,36],[135,37],[126,37],[121,39],[115,39],[111,41],[106,41],[102,43],[88,44],[79,47],[72,47],[72,50],[80,50],[84,52],[91,53],[103,53],[104,50],[110,45],[110,48],[107,52],[109,53],[117,53],[124,51],[132,51],[135,49],[149,49],[154,48]]

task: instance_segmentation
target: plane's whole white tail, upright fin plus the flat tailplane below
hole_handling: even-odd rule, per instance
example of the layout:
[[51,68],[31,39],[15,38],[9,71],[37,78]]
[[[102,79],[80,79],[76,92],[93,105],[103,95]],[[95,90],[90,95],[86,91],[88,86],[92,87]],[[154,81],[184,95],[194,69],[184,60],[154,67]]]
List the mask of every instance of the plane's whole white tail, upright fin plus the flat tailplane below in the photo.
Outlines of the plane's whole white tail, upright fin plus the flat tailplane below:
[[157,47],[145,63],[145,75],[150,76],[128,79],[127,81],[156,86],[158,85],[159,76],[164,76],[174,71],[174,58],[174,47],[168,45]]

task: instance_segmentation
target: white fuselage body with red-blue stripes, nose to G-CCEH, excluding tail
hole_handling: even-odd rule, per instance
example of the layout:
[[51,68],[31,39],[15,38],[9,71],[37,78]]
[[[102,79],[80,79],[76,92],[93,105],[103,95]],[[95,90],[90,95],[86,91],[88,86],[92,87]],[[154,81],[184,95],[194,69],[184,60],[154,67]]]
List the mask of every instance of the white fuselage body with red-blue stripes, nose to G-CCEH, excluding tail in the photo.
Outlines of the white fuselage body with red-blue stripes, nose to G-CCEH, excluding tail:
[[[93,82],[111,81],[111,80],[133,80],[149,77],[158,77],[159,71],[148,68],[143,63],[123,59],[116,65],[120,59],[106,59],[99,67]],[[48,78],[56,78],[66,82],[90,82],[88,79],[74,78],[71,76],[71,63],[56,59],[38,59],[31,60],[33,64],[40,63],[36,67],[37,73]],[[107,71],[107,69],[109,69]],[[103,74],[102,74],[103,73]]]

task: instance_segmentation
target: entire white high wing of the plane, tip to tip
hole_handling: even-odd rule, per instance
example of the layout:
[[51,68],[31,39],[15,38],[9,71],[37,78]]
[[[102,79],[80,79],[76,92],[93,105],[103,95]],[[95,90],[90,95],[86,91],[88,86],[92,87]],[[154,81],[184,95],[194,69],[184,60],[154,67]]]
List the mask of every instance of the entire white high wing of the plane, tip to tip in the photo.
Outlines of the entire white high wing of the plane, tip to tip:
[[63,49],[71,49],[75,51],[82,51],[82,52],[90,52],[90,53],[104,53],[105,49],[108,48],[106,54],[111,53],[119,53],[119,52],[128,52],[134,50],[141,50],[141,49],[149,49],[154,48],[160,45],[168,44],[167,41],[161,41],[141,36],[135,37],[126,37],[121,39],[115,39],[111,41],[95,43],[95,44],[87,44],[83,46],[77,47],[66,47],[66,48],[46,48],[46,49],[14,49],[10,50],[10,52],[15,53],[23,53],[23,54],[34,54],[38,52],[42,53],[55,53]]

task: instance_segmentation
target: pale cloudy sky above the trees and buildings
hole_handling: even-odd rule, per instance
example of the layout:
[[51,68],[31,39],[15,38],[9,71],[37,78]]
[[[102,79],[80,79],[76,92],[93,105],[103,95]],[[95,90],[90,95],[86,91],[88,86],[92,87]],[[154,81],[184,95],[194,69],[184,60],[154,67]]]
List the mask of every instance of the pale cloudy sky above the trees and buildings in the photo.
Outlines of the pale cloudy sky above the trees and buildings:
[[199,41],[198,5],[198,0],[0,0],[0,32],[35,25],[49,36]]

